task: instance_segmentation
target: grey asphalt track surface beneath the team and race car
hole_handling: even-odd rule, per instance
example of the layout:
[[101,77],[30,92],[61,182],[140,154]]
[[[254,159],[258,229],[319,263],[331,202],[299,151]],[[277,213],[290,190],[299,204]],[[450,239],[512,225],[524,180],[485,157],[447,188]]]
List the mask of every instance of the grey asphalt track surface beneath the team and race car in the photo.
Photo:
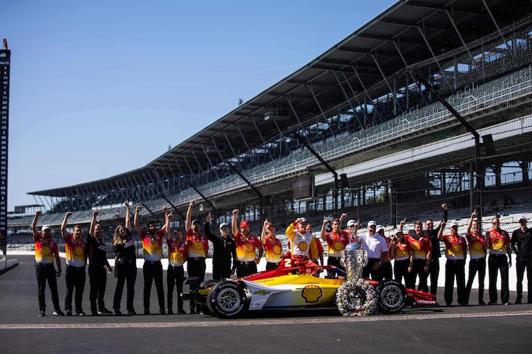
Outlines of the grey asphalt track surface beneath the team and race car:
[[[46,289],[46,317],[38,317],[33,257],[17,256],[17,259],[18,266],[0,275],[0,353],[3,354],[500,354],[529,353],[532,346],[532,304],[410,308],[397,315],[367,317],[342,317],[336,311],[256,313],[240,319],[188,314],[56,317],[52,315],[50,292]],[[58,287],[62,308],[64,275],[59,278]],[[135,286],[137,313],[142,313],[142,287],[141,269]],[[114,289],[115,278],[109,275],[105,298],[109,309]],[[437,295],[443,297],[442,288]],[[475,295],[473,290],[473,299]],[[158,309],[156,299],[153,286],[152,312]],[[513,299],[515,293],[511,294]],[[124,305],[125,291],[123,308]],[[84,310],[90,313],[89,308],[87,278]]]

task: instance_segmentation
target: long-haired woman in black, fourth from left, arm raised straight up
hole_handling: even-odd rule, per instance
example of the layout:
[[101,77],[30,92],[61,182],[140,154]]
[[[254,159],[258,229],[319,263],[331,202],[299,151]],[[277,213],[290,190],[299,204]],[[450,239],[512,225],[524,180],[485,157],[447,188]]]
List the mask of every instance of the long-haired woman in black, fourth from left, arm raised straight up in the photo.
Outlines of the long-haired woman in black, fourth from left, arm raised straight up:
[[126,224],[117,226],[113,234],[115,278],[117,278],[113,310],[115,315],[122,315],[120,300],[122,299],[124,284],[127,282],[127,314],[136,315],[133,299],[135,298],[135,281],[137,280],[137,251],[135,250],[135,242],[131,237],[131,212],[127,201],[124,202],[124,207],[126,208]]

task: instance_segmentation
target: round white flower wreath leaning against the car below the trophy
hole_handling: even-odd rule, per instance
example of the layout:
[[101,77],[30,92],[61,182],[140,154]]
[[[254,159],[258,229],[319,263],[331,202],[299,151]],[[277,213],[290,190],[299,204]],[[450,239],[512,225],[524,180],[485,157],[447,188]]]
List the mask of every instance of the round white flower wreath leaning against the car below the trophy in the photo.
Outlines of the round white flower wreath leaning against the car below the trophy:
[[336,306],[344,316],[372,315],[377,309],[375,289],[364,279],[349,279],[338,288]]

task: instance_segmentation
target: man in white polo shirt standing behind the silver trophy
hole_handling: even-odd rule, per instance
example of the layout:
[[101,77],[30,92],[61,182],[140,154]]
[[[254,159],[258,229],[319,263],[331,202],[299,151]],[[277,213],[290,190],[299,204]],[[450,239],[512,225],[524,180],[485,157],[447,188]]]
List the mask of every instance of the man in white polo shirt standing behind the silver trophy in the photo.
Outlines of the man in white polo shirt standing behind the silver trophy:
[[[357,237],[357,231],[360,223],[354,225],[354,235]],[[388,253],[388,244],[386,240],[377,232],[377,223],[371,220],[368,222],[368,232],[359,236],[362,242],[362,248],[368,253],[368,264],[362,268],[362,277],[373,280],[382,280],[382,264],[386,260]]]

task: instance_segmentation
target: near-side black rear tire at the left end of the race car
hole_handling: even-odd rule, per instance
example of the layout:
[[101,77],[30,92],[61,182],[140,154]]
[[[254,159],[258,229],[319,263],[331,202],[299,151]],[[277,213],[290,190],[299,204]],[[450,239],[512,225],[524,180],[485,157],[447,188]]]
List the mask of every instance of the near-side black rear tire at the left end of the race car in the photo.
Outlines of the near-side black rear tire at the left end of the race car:
[[249,308],[245,290],[236,282],[218,282],[207,295],[207,308],[220,318],[238,317]]

